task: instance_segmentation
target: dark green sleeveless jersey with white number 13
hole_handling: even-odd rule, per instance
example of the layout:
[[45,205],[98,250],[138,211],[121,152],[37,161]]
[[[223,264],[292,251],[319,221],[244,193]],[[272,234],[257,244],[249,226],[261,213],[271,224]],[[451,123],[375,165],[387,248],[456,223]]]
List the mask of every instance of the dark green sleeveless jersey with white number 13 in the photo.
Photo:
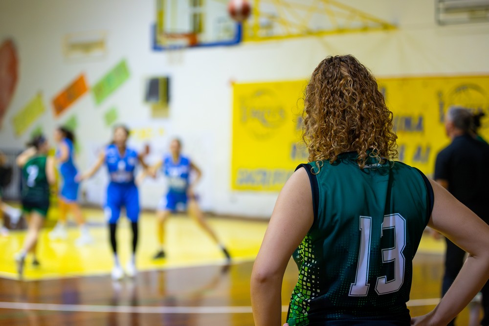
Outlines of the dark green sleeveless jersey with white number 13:
[[410,323],[412,259],[433,190],[408,165],[369,158],[360,169],[356,158],[356,152],[340,154],[333,164],[322,162],[316,175],[315,162],[301,165],[311,181],[314,222],[294,253],[299,279],[291,326]]

